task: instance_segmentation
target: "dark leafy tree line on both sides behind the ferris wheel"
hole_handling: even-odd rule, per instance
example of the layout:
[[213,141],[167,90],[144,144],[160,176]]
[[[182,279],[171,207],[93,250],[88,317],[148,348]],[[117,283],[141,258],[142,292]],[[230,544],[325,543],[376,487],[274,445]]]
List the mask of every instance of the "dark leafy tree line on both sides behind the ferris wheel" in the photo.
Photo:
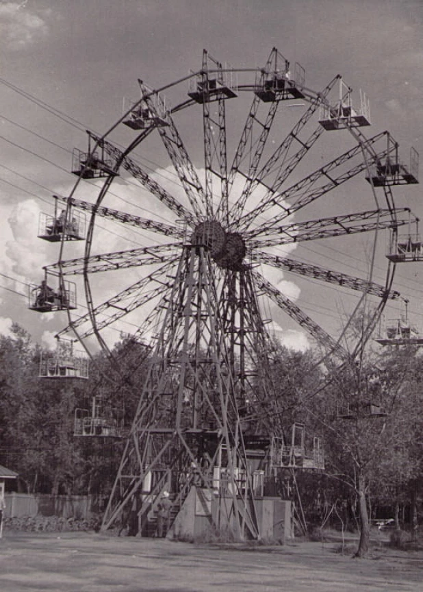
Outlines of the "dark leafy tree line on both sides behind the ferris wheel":
[[[18,472],[26,493],[107,495],[123,438],[74,435],[75,410],[99,396],[103,412],[130,425],[149,351],[121,338],[112,360],[98,354],[88,380],[38,377],[42,350],[14,323],[0,336],[0,463]],[[115,368],[116,370],[113,370]],[[281,471],[281,495],[300,499],[305,527],[329,514],[357,519],[359,554],[366,554],[370,518],[400,508],[417,532],[423,482],[423,356],[418,347],[368,348],[342,366],[322,364],[315,351],[275,344],[272,394],[250,401],[251,430],[289,439],[294,422],[322,438],[324,471]]]

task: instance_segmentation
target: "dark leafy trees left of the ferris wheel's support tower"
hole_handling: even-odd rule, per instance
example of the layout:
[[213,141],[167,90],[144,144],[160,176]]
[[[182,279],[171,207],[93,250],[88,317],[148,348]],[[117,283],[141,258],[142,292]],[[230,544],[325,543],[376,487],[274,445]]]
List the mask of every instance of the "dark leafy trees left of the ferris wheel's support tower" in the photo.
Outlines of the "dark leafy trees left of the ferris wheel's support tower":
[[101,393],[121,425],[131,424],[140,396],[146,351],[123,338],[110,360],[99,354],[89,380],[38,378],[40,348],[16,323],[0,336],[0,464],[19,475],[25,493],[107,493],[123,440],[74,436],[75,408],[91,408]]

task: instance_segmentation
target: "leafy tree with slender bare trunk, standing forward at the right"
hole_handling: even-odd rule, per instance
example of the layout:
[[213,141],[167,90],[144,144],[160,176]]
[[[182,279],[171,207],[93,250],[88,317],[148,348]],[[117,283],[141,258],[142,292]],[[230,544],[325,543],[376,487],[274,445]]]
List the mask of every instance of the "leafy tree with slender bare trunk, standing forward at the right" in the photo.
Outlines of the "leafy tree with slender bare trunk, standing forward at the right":
[[369,547],[370,491],[407,482],[416,470],[409,454],[409,355],[393,363],[392,354],[368,354],[331,371],[326,406],[319,412],[315,405],[324,425],[326,468],[348,485],[358,506],[358,557],[366,556]]

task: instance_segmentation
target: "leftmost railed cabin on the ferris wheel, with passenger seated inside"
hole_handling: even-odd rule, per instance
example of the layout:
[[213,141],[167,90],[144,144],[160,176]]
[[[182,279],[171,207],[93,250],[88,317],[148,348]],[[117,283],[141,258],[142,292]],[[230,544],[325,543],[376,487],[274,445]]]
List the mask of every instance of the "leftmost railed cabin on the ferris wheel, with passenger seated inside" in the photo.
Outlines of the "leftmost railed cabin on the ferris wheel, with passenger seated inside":
[[[57,278],[55,281],[57,282]],[[75,283],[62,280],[54,288],[51,288],[50,283],[52,282],[46,275],[41,284],[29,284],[29,310],[37,312],[75,310],[77,308]]]

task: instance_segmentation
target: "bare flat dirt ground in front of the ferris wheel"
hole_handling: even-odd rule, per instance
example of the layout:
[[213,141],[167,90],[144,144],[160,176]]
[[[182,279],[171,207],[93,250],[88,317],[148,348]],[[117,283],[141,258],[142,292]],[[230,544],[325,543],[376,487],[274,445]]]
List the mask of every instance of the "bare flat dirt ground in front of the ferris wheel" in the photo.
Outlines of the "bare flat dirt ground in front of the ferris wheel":
[[5,532],[0,540],[0,590],[423,591],[422,551],[392,550],[376,541],[370,557],[357,560],[335,552],[338,547],[334,541],[252,547],[86,532]]

